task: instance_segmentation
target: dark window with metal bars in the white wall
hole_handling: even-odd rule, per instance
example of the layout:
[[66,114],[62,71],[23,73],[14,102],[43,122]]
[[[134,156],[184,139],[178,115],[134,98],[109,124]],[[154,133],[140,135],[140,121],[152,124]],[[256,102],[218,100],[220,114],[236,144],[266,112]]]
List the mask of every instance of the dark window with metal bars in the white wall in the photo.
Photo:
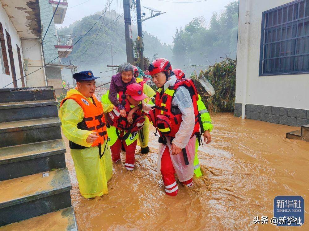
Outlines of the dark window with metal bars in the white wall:
[[309,73],[309,0],[262,13],[259,75]]

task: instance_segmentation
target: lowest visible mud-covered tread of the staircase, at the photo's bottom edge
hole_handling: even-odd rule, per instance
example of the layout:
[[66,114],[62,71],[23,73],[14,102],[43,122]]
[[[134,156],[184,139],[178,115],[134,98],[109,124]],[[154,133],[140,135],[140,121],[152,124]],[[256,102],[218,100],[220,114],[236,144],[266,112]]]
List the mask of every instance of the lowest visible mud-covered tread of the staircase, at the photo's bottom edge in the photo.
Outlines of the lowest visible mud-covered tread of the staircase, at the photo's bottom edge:
[[72,207],[0,227],[0,231],[77,231]]

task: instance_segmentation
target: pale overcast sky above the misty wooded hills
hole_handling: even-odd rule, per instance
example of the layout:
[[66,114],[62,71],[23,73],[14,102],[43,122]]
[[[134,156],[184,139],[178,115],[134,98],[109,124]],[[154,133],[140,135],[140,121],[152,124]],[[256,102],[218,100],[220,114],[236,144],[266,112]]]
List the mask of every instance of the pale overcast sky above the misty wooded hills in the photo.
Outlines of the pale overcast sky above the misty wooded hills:
[[[214,11],[220,13],[224,6],[232,0],[208,0],[203,2],[196,2],[201,0],[167,0],[171,2],[164,2],[160,0],[141,0],[142,12],[146,13],[146,17],[150,16],[150,11],[143,8],[143,6],[150,6],[165,14],[159,15],[155,18],[150,18],[142,23],[142,30],[146,30],[150,34],[154,34],[163,43],[172,44],[176,27],[184,27],[194,17],[204,16],[208,25],[211,15]],[[79,20],[90,14],[105,8],[104,0],[67,0],[69,6],[66,11],[66,17],[62,25],[69,26],[75,20]],[[132,2],[132,1],[131,1]],[[172,2],[194,2],[194,3],[172,3]],[[80,5],[79,5],[80,4]],[[118,13],[123,13],[122,0],[113,0],[108,10],[116,10]],[[133,13],[133,12],[132,12]],[[136,16],[135,16],[136,17]],[[136,19],[132,14],[132,25]]]

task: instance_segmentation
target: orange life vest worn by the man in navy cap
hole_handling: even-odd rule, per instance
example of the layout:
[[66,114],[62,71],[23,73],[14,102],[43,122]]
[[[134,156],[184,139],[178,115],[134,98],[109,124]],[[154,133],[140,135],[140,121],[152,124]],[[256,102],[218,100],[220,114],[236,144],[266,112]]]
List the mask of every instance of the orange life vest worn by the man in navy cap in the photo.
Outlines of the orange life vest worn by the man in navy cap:
[[[84,112],[84,118],[82,122],[77,124],[77,128],[96,132],[95,135],[99,136],[99,138],[92,143],[91,147],[99,146],[99,155],[100,157],[102,157],[104,152],[101,155],[101,144],[104,144],[104,140],[107,140],[107,131],[101,102],[96,98],[95,95],[92,95],[91,97],[93,101],[92,103],[85,96],[80,94],[74,94],[63,99],[61,101],[60,107],[67,99],[74,99],[76,103],[78,103],[78,105],[82,107]],[[69,144],[71,149],[87,148],[82,145],[75,144],[72,141],[70,141]]]

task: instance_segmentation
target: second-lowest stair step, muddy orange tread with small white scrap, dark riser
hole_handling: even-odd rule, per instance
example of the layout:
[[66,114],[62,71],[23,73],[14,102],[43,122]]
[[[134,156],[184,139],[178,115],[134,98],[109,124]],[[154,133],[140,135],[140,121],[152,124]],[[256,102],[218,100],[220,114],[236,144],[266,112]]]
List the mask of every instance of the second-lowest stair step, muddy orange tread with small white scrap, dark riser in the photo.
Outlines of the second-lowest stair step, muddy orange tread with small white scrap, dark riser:
[[0,226],[71,206],[67,168],[0,181]]

